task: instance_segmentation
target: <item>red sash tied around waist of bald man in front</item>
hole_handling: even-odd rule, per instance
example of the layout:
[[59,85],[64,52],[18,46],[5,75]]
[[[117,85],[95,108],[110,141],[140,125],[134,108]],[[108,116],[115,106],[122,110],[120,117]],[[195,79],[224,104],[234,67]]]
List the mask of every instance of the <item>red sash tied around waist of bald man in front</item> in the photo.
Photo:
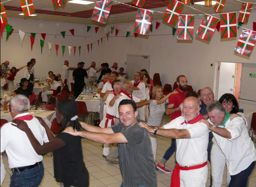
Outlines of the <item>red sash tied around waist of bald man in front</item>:
[[207,164],[207,161],[203,164],[199,164],[191,167],[181,167],[180,164],[176,164],[172,178],[171,178],[171,186],[170,187],[180,187],[180,170],[195,170],[204,167]]

